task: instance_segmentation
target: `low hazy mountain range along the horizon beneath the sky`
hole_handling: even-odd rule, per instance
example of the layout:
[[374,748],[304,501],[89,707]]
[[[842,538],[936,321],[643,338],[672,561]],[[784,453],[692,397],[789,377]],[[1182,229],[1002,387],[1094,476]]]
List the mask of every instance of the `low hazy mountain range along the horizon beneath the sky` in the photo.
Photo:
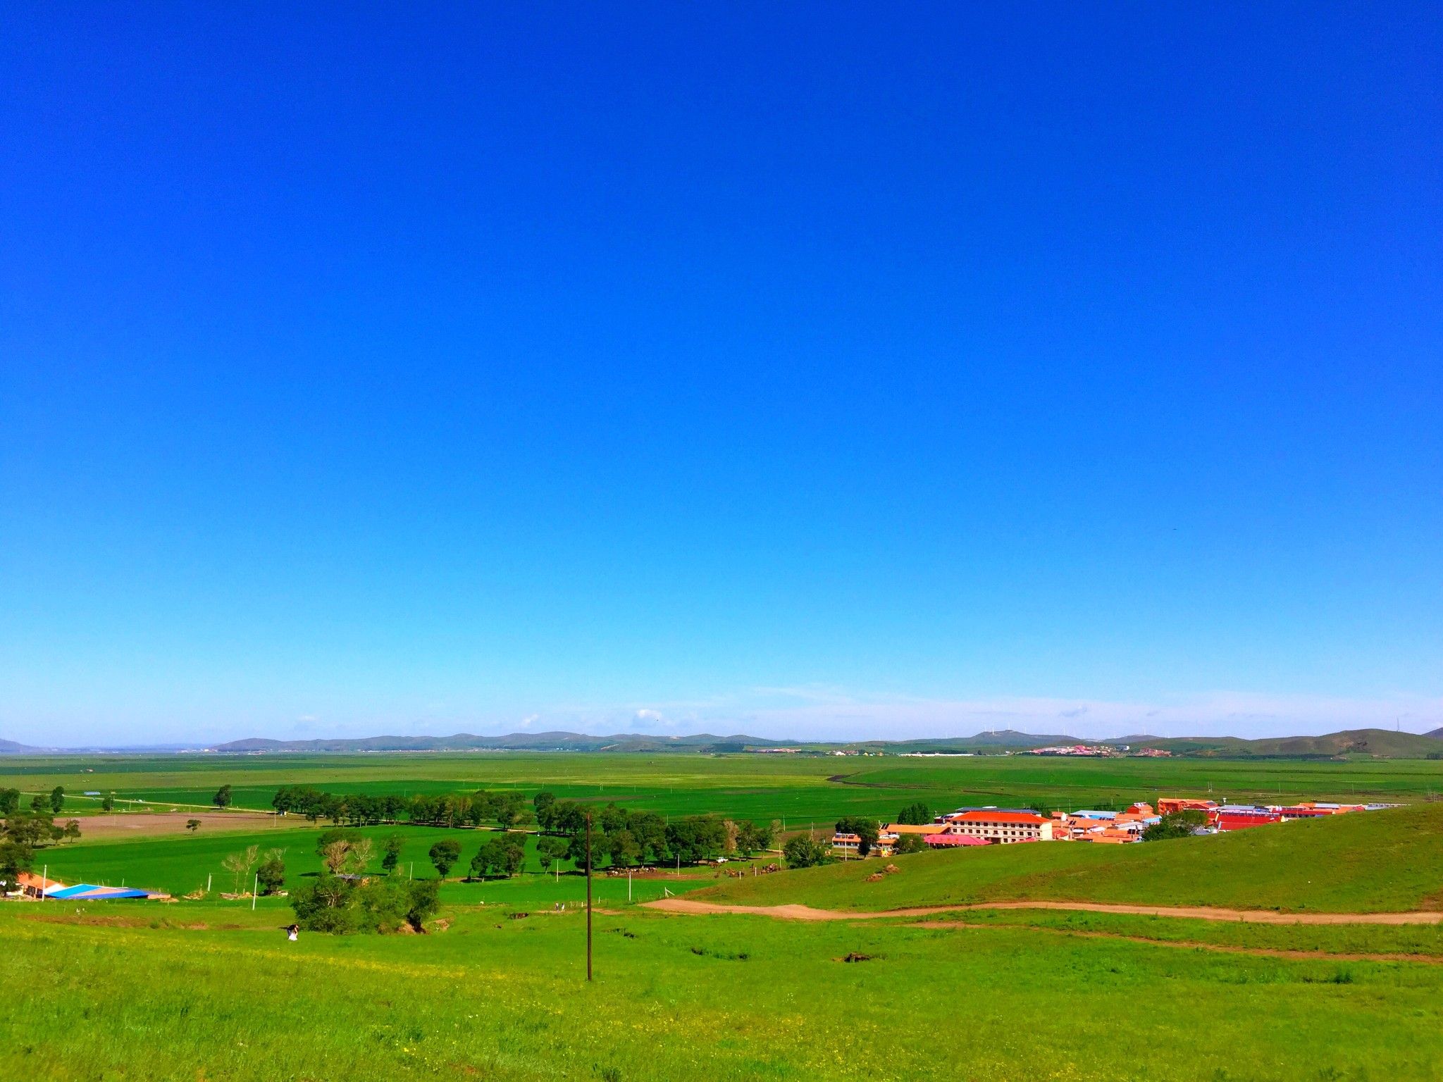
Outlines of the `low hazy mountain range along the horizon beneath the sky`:
[[267,740],[253,737],[231,740],[212,747],[30,747],[13,740],[0,740],[0,755],[56,755],[92,752],[209,752],[218,755],[257,753],[354,753],[354,752],[743,752],[747,749],[798,749],[815,752],[1025,752],[1035,747],[1069,744],[1127,744],[1133,749],[1159,749],[1173,755],[1206,757],[1281,757],[1317,759],[1342,755],[1377,759],[1426,759],[1443,755],[1443,729],[1417,736],[1390,729],[1349,729],[1326,736],[1289,736],[1244,740],[1235,736],[1159,737],[1147,734],[1120,736],[1110,740],[1084,740],[1075,736],[1019,733],[1012,729],[988,730],[975,736],[934,737],[922,740],[860,740],[825,743],[814,740],[768,740],[765,737],[713,736],[654,736],[648,733],[615,733],[587,736],[584,733],[508,733],[506,736],[371,736],[349,740]]

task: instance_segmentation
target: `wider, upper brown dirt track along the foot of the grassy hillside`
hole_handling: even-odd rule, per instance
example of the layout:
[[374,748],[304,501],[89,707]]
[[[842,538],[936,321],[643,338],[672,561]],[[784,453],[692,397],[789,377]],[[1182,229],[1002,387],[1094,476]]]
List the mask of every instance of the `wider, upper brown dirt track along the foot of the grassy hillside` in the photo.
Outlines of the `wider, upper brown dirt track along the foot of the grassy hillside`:
[[[978,902],[967,906],[913,906],[883,909],[874,913],[843,913],[811,906],[724,906],[685,897],[664,897],[644,902],[645,909],[664,913],[752,913],[782,920],[876,920],[889,916],[937,916],[971,909],[1061,909],[1084,913],[1130,913],[1133,916],[1183,916],[1193,920],[1234,920],[1253,925],[1437,925],[1443,912],[1417,910],[1411,913],[1278,913],[1271,909],[1215,909],[1211,906],[1124,906],[1104,902]],[[1153,941],[1149,941],[1153,942]]]

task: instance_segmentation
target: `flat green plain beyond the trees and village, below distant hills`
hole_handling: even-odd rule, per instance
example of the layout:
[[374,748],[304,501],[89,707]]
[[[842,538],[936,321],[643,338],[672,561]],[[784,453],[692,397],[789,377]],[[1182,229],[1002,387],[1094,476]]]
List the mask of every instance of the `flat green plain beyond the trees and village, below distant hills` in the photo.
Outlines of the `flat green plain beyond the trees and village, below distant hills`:
[[87,789],[160,808],[208,805],[221,785],[235,806],[268,808],[281,785],[338,793],[462,793],[478,788],[550,789],[560,798],[616,801],[662,815],[831,822],[841,815],[889,818],[913,801],[1076,809],[1157,795],[1234,801],[1420,801],[1443,795],[1443,760],[1404,759],[948,759],[411,753],[263,756],[68,756],[0,759],[0,786],[71,793],[68,809],[92,808]]

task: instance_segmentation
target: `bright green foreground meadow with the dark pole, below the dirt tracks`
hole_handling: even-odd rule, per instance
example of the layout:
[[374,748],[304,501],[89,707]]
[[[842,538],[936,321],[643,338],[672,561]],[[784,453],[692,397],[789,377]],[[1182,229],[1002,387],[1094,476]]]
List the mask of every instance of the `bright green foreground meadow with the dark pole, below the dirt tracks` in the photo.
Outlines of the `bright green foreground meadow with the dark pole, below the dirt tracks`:
[[579,913],[287,944],[38,909],[0,907],[0,1065],[35,1079],[1381,1082],[1443,1057],[1436,965],[633,910],[597,918],[587,985]]

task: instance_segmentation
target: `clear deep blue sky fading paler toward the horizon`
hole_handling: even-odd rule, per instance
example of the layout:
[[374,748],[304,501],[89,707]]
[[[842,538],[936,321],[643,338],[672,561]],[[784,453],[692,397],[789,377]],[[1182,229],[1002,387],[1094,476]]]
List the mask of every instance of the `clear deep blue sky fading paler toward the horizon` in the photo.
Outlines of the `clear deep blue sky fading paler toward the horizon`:
[[1436,4],[0,14],[0,736],[1443,726]]

